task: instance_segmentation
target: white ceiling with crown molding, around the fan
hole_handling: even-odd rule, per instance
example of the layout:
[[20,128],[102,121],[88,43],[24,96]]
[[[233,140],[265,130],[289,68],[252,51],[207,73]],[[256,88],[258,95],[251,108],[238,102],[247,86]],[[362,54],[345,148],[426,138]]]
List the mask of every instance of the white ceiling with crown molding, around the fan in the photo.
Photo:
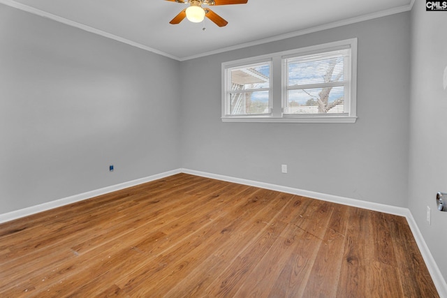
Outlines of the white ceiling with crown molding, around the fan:
[[[169,21],[184,3],[164,0],[0,0],[180,61],[233,48],[279,40],[411,9],[414,0],[249,0],[212,6],[228,21]],[[203,31],[203,27],[206,31]]]

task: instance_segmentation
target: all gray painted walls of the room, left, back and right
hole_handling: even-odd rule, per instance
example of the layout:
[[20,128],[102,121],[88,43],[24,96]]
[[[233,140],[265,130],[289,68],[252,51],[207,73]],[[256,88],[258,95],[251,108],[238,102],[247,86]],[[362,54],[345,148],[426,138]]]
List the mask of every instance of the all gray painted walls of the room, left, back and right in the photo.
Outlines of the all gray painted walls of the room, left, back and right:
[[[417,0],[412,13],[179,63],[0,4],[0,214],[185,167],[408,206],[447,278],[434,204],[447,191],[446,27]],[[353,37],[356,124],[221,122],[222,62]]]

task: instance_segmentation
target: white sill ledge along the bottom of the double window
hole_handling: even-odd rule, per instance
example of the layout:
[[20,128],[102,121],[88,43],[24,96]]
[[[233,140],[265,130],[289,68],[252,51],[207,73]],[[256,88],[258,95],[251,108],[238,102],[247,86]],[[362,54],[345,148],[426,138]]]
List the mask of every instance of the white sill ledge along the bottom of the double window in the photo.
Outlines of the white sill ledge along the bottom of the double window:
[[357,117],[222,117],[222,122],[356,123]]

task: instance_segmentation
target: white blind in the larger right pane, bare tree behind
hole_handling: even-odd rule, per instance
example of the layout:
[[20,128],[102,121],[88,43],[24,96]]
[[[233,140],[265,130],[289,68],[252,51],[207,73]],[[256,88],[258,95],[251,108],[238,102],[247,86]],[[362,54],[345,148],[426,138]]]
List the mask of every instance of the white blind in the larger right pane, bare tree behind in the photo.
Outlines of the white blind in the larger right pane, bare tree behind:
[[284,59],[284,115],[349,114],[351,48]]

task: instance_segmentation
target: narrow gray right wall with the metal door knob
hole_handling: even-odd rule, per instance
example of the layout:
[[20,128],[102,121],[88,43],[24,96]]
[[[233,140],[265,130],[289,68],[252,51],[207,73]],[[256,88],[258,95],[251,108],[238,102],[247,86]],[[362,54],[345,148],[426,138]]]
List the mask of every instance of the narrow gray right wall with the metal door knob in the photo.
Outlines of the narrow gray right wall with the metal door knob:
[[435,200],[438,191],[447,192],[447,14],[426,12],[425,1],[417,0],[411,21],[409,209],[447,280],[447,212],[437,211]]

